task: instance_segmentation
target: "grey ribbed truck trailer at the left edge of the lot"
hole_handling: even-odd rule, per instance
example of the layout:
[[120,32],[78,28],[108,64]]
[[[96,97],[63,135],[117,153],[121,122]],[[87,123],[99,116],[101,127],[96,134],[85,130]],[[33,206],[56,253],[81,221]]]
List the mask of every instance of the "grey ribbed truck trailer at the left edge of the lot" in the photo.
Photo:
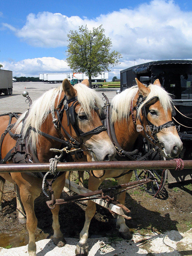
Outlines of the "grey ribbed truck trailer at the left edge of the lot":
[[0,94],[10,95],[12,94],[12,89],[12,71],[0,69]]

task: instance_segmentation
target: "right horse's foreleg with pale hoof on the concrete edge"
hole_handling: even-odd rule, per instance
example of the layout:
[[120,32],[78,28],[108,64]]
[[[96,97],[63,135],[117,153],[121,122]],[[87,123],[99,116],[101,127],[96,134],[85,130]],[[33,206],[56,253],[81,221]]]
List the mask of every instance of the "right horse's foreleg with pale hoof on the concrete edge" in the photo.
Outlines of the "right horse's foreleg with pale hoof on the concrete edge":
[[[95,179],[92,174],[90,174],[89,177],[89,189],[92,191],[95,191],[99,188],[101,182],[103,179]],[[89,225],[90,222],[95,215],[96,212],[96,204],[92,202],[91,200],[88,200],[87,203],[87,208],[85,210],[85,223],[84,227],[80,233],[80,240],[76,245],[76,250],[75,253],[76,255],[88,255],[88,243],[87,243],[87,238],[89,235]]]

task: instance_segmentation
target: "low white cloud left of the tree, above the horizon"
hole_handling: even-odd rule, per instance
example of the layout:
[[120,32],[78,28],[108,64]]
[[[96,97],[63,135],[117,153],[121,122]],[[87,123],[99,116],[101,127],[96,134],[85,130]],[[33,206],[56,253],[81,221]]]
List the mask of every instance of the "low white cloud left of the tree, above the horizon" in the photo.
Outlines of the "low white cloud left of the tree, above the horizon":
[[65,60],[53,57],[26,59],[20,61],[1,62],[3,69],[12,70],[13,76],[35,76],[41,73],[66,73],[70,71]]

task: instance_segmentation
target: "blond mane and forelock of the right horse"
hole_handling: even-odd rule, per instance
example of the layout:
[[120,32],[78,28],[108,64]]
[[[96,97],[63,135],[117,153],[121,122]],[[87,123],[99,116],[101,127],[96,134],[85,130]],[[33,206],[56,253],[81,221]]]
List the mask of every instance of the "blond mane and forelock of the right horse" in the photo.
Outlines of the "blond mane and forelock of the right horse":
[[[140,111],[143,105],[154,96],[157,96],[159,98],[160,105],[164,109],[164,112],[166,115],[167,111],[172,109],[172,105],[171,105],[172,99],[170,97],[170,94],[166,92],[163,87],[158,85],[149,84],[146,87],[150,89],[150,92],[146,100],[144,100],[144,102],[138,108],[137,115],[140,114]],[[137,100],[135,98],[137,92],[138,92],[138,86],[134,85],[131,88],[127,88],[123,92],[117,94],[112,99],[111,101],[112,115],[110,120],[111,123],[115,123],[116,121],[121,121],[123,119],[126,119],[127,121],[129,120],[131,101],[132,99]]]

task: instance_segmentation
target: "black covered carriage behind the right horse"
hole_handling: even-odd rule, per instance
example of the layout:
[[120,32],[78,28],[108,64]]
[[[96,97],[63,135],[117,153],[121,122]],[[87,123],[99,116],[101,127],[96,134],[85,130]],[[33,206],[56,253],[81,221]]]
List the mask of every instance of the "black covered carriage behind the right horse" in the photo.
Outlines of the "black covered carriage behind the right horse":
[[[135,78],[149,84],[159,79],[171,93],[176,115],[173,117],[183,150],[180,158],[192,159],[192,60],[161,60],[136,65],[120,71],[121,91],[135,85]],[[191,170],[169,172],[168,182],[191,180]]]

